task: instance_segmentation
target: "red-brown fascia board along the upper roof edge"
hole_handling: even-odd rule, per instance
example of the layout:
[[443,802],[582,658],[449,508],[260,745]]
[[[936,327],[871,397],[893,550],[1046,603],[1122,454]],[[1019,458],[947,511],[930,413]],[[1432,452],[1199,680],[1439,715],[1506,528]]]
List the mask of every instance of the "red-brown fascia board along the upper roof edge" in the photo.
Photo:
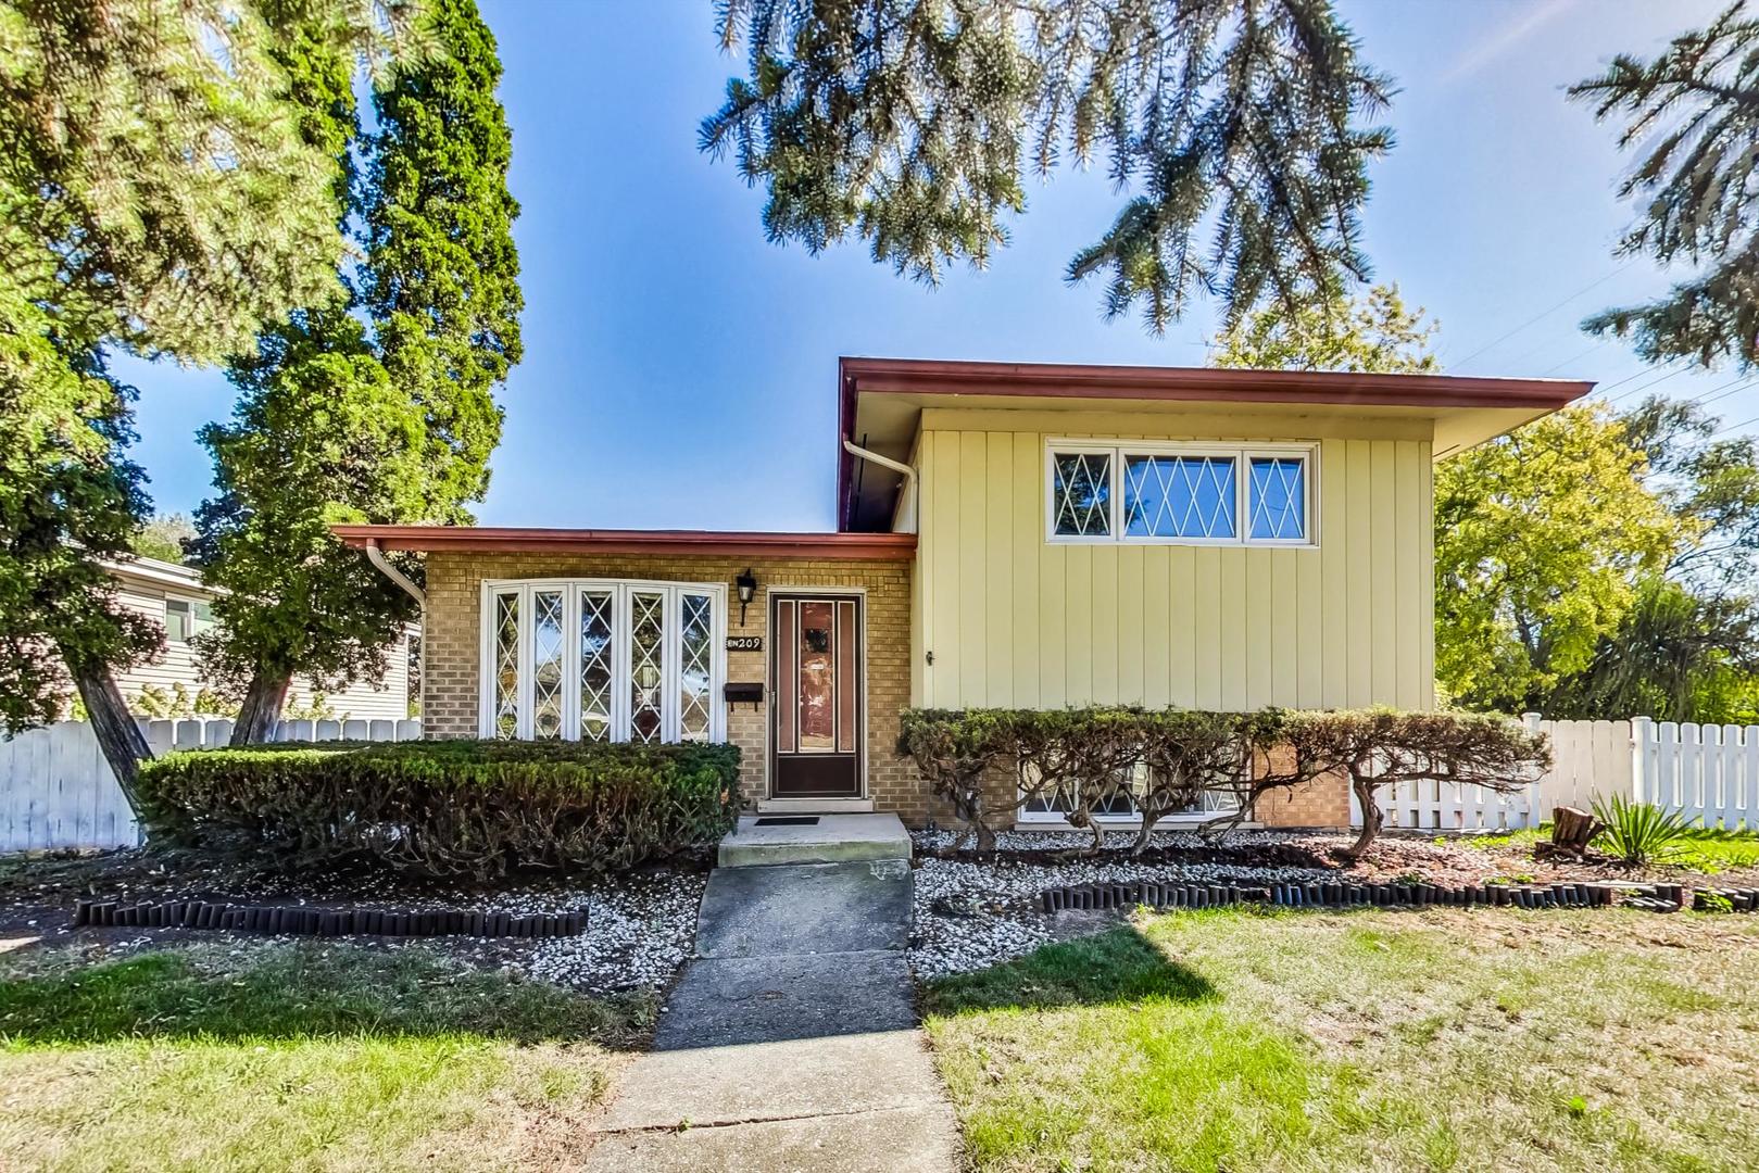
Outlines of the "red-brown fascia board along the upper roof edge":
[[1085,362],[962,362],[945,359],[837,361],[837,522],[848,524],[855,457],[855,401],[864,394],[946,394],[1057,399],[1161,399],[1168,403],[1344,403],[1412,408],[1537,408],[1555,412],[1594,390],[1564,378],[1254,371],[1208,366],[1105,366]]

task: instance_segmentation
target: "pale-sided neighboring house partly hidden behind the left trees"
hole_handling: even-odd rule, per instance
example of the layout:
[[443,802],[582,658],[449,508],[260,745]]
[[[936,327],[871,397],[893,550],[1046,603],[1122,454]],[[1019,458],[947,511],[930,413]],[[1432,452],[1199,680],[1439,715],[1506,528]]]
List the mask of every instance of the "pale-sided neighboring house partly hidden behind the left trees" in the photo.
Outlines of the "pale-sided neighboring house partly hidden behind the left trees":
[[[192,640],[213,626],[215,589],[202,584],[193,566],[157,557],[107,559],[104,568],[116,580],[116,600],[123,607],[165,626],[162,656],[116,674],[123,700],[141,716],[169,716],[162,712],[165,703],[174,703],[179,709],[176,716],[185,716],[185,705],[193,707],[195,698],[211,689],[199,670]],[[419,628],[412,626],[387,652],[383,686],[359,681],[341,691],[322,693],[324,710],[362,721],[410,716],[410,640],[419,638]],[[294,677],[287,691],[288,710],[311,712],[318,696],[310,681]],[[179,698],[183,703],[178,703]]]

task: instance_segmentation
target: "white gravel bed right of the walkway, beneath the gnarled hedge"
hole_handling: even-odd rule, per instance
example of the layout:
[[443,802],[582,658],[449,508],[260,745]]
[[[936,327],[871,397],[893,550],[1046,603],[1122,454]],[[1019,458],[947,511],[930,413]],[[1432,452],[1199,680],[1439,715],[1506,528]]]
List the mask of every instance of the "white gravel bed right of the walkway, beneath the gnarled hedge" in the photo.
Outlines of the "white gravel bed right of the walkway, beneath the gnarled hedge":
[[[934,842],[931,837],[945,837]],[[948,832],[918,832],[916,844],[948,846]],[[1038,893],[1045,888],[1092,883],[1133,881],[1247,881],[1302,883],[1333,879],[1332,869],[1319,867],[1242,867],[1233,863],[1136,863],[1128,853],[1112,851],[1092,860],[1068,863],[1020,863],[1006,856],[1020,849],[1085,848],[1092,835],[1084,832],[1003,832],[1001,855],[994,862],[922,858],[915,871],[915,932],[909,964],[918,978],[971,973],[1024,957],[1050,944],[1059,932],[1057,916],[1041,913]],[[1122,835],[1119,837],[1122,846]],[[1189,842],[1186,842],[1189,841]],[[1203,846],[1184,832],[1156,834],[1156,846]],[[1064,914],[1066,916],[1066,914]],[[1089,918],[1092,923],[1092,918]]]

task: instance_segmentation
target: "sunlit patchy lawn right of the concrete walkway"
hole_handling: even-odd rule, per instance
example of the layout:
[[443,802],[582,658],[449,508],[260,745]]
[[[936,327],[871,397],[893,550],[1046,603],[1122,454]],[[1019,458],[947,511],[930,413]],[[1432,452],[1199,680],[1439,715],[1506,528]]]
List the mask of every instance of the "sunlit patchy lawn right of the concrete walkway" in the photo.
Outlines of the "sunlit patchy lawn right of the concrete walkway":
[[978,1169],[1738,1169],[1759,918],[1138,914],[927,992]]

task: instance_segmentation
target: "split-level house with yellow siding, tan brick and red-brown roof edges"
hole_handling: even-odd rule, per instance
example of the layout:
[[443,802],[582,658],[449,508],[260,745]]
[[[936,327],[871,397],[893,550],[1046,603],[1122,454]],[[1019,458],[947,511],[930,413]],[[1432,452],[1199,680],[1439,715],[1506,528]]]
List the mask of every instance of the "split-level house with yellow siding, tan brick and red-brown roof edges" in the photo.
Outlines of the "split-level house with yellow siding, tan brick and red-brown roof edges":
[[426,557],[426,735],[725,739],[763,809],[920,825],[908,705],[1430,707],[1432,466],[1590,387],[843,359],[830,533],[336,533]]

